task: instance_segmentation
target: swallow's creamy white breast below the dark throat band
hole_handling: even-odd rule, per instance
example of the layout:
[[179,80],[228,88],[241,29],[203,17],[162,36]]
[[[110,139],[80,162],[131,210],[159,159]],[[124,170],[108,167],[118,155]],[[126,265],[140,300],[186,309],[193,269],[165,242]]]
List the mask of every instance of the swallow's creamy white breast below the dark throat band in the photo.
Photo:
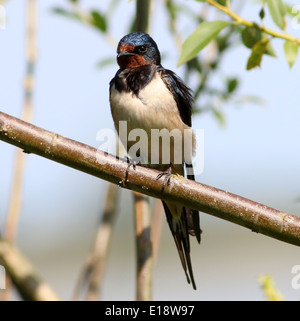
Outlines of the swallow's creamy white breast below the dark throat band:
[[[148,135],[149,152],[151,149],[151,129],[161,130],[166,128],[169,132],[173,129],[179,129],[182,133],[184,129],[189,129],[181,120],[172,93],[157,73],[152,81],[139,91],[138,97],[133,93],[125,91],[119,92],[112,86],[110,105],[118,133],[120,121],[127,121],[127,135],[135,128],[145,130]],[[124,144],[127,137],[121,136],[120,139]],[[127,143],[128,148],[131,145],[132,144]],[[164,146],[160,146],[159,149],[161,150],[163,148]],[[171,146],[171,153],[174,148],[176,150],[176,146]],[[190,154],[191,153],[192,151]],[[133,157],[132,155],[130,156]]]

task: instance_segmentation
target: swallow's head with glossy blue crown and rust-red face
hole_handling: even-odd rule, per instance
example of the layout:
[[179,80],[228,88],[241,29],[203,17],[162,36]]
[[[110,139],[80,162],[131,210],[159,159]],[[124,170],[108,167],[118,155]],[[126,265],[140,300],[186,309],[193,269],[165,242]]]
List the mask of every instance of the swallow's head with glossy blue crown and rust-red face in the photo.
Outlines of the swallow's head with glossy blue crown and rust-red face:
[[117,62],[121,68],[160,65],[157,44],[144,32],[132,32],[124,36],[118,44],[117,54]]

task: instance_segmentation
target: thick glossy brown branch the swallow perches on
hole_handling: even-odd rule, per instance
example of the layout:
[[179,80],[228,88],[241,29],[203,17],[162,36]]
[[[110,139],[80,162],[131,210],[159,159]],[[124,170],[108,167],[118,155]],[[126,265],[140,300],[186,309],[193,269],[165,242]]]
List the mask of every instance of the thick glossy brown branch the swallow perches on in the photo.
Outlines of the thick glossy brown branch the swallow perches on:
[[241,196],[173,175],[162,193],[158,171],[136,166],[124,185],[127,162],[0,112],[0,140],[152,197],[175,201],[286,243],[300,245],[300,218]]

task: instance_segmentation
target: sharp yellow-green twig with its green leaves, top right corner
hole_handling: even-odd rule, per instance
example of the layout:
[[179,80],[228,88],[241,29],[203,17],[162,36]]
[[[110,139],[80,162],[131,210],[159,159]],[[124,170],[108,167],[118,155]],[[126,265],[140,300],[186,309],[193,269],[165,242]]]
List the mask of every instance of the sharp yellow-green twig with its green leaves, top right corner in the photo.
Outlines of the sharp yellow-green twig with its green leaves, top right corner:
[[[200,0],[199,0],[200,1]],[[287,32],[278,32],[267,28],[263,24],[265,17],[265,3],[268,4],[268,9],[274,23],[282,30],[286,29],[286,6],[282,0],[264,0],[263,6],[259,12],[261,24],[252,22],[242,18],[230,8],[230,1],[215,1],[202,0],[221,12],[227,14],[233,21],[205,21],[186,39],[182,46],[178,65],[182,65],[198,53],[213,39],[216,39],[219,33],[228,26],[240,27],[236,32],[241,34],[242,43],[251,49],[250,57],[247,62],[247,70],[259,67],[264,54],[269,54],[276,57],[274,50],[271,47],[271,40],[279,38],[285,40],[284,52],[286,60],[292,67],[297,60],[300,38],[296,38]],[[242,27],[242,28],[241,28]]]

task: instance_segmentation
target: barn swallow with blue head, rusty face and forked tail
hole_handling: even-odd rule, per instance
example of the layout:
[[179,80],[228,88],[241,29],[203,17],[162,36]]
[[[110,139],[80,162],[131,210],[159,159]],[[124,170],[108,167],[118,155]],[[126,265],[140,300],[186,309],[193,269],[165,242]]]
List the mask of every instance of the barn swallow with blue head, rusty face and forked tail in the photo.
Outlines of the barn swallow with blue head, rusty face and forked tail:
[[[160,171],[157,179],[165,176],[162,191],[170,184],[172,174],[184,176],[184,166],[187,178],[195,180],[191,161],[195,148],[191,89],[175,72],[161,65],[158,46],[145,32],[125,35],[118,43],[116,60],[119,70],[109,84],[109,101],[115,128],[128,156]],[[120,122],[126,122],[126,132],[120,130]],[[147,137],[138,150],[133,148],[134,141],[128,139],[134,130],[142,130]],[[154,140],[155,130],[187,133],[191,144],[178,142],[175,137],[169,141],[163,137]],[[165,150],[169,151],[168,163],[162,157]],[[180,162],[175,161],[178,150],[183,157]],[[133,164],[136,165],[135,161]],[[200,244],[199,212],[176,202],[163,200],[162,203],[187,282],[196,290],[189,236],[195,236]]]

